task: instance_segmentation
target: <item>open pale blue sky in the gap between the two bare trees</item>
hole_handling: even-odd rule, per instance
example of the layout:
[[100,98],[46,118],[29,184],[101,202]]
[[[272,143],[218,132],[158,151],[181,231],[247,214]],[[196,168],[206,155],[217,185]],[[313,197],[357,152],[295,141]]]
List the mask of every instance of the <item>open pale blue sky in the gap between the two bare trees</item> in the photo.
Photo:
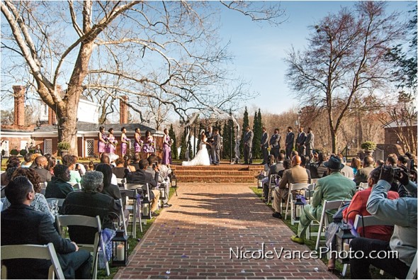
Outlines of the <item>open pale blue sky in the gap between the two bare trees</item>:
[[[414,1],[388,1],[387,11],[407,11]],[[222,11],[222,38],[231,40],[230,52],[235,55],[235,74],[252,82],[251,91],[259,96],[245,105],[261,111],[281,113],[298,106],[285,82],[287,65],[283,61],[292,45],[302,50],[307,45],[308,26],[341,7],[354,6],[355,1],[281,1],[288,21],[281,26],[257,24],[232,11]]]

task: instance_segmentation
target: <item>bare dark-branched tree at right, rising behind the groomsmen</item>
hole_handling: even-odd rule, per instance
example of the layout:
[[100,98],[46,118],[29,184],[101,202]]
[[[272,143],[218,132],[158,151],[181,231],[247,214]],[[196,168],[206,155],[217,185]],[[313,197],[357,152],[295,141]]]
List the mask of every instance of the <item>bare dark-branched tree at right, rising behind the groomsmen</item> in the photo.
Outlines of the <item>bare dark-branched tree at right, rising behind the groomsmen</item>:
[[385,5],[358,2],[356,11],[343,8],[322,18],[311,27],[307,50],[291,50],[286,59],[295,96],[303,105],[327,111],[332,152],[337,152],[337,133],[354,99],[391,81],[383,57],[402,38],[405,23],[398,22],[397,13],[386,15]]

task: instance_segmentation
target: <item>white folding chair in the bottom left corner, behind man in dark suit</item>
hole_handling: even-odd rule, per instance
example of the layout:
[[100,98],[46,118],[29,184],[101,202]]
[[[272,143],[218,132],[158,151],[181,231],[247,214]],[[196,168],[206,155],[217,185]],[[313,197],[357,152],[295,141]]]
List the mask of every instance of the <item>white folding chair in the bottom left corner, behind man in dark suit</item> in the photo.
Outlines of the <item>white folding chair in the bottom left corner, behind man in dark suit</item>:
[[[54,245],[4,245],[1,246],[1,262],[6,259],[49,259],[52,264],[48,271],[48,279],[65,279],[62,272],[61,264],[58,261],[57,253]],[[22,268],[27,269],[27,268]],[[1,265],[1,279],[7,278],[7,267]]]

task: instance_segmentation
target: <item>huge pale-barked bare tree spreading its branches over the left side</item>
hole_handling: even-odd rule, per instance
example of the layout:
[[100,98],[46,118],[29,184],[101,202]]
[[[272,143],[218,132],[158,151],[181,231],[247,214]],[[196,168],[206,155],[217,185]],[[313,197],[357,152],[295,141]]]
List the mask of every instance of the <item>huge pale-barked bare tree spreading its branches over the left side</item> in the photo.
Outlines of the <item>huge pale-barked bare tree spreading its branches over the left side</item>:
[[[222,4],[254,21],[278,24],[283,16],[272,3]],[[77,108],[86,89],[115,100],[122,95],[155,99],[181,116],[247,94],[213,94],[231,83],[222,68],[230,57],[216,37],[214,6],[200,1],[1,1],[7,26],[1,28],[1,47],[21,65],[13,74],[33,77],[35,91],[57,114],[59,139],[77,153]],[[67,85],[64,96],[57,92],[60,84]]]

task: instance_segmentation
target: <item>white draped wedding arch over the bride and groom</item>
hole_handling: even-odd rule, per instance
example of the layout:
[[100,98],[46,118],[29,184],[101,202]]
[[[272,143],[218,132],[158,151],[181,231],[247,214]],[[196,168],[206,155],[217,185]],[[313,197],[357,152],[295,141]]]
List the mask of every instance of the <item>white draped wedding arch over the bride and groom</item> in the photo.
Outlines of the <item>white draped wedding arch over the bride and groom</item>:
[[[205,109],[206,111],[207,109]],[[222,111],[220,108],[210,107],[209,111],[215,113],[216,116],[219,118],[225,118],[227,120],[232,120],[234,122],[234,131],[235,131],[235,157],[232,159],[231,164],[234,164],[235,162],[239,162],[239,157],[241,156],[239,152],[239,142],[241,140],[241,135],[239,135],[239,132],[241,131],[239,123],[237,122],[237,119],[232,115],[232,113],[227,113],[225,111]],[[196,111],[191,115],[190,118],[188,118],[188,121],[186,122],[186,143],[190,140],[190,130],[191,125],[196,121],[196,118],[198,118],[199,114],[202,113],[203,110]],[[187,149],[188,150],[188,149]],[[187,155],[188,157],[188,155]],[[189,158],[187,160],[190,160]]]

